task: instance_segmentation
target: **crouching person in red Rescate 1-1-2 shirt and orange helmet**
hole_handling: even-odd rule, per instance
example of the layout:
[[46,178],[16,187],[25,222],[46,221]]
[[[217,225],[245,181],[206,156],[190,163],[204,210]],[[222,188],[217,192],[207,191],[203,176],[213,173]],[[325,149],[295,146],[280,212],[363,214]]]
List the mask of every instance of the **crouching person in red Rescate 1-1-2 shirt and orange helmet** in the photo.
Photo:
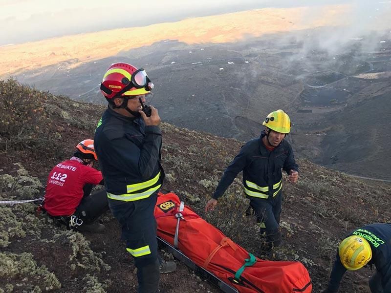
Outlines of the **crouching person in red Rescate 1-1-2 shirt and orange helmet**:
[[104,184],[102,173],[92,167],[96,160],[94,141],[86,139],[47,178],[43,209],[68,229],[99,232],[105,228],[96,220],[109,209],[106,190],[89,195],[95,185]]

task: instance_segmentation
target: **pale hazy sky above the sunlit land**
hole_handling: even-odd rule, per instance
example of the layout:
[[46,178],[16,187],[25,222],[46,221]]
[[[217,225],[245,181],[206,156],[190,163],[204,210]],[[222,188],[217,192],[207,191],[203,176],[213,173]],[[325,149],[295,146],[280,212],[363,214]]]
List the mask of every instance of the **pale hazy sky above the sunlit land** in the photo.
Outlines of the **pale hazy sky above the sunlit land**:
[[[0,0],[0,46],[264,7],[388,6],[391,0]],[[375,3],[375,4],[373,4]],[[380,3],[380,4],[379,4]],[[148,36],[146,36],[147,38]]]

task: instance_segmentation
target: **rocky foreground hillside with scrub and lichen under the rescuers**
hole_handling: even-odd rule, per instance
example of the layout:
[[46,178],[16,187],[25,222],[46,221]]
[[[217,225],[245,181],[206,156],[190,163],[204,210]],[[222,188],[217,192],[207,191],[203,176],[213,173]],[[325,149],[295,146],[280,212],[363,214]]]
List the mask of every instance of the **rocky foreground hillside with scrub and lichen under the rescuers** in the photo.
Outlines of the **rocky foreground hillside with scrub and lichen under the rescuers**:
[[[104,107],[53,96],[0,81],[0,200],[43,195],[49,170],[92,138]],[[164,121],[164,117],[163,117]],[[203,218],[263,259],[301,261],[314,292],[326,286],[338,241],[348,230],[370,222],[390,222],[390,185],[365,182],[299,159],[297,185],[284,180],[283,245],[260,250],[255,219],[245,217],[248,200],[237,178],[217,210],[203,208],[224,167],[242,142],[166,123],[161,125],[163,192],[174,191]],[[0,204],[0,292],[133,292],[134,265],[120,240],[120,227],[107,213],[102,234],[56,227],[34,204]],[[172,257],[166,254],[166,257]],[[369,292],[369,269],[345,275],[340,292]],[[218,292],[182,264],[162,276],[168,292]]]

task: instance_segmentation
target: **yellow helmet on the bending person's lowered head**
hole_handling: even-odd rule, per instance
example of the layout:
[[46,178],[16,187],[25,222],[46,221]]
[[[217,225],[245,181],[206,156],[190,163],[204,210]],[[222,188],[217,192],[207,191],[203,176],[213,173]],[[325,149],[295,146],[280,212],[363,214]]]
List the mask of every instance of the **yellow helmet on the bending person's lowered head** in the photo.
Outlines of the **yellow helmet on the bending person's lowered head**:
[[361,269],[372,258],[368,241],[357,235],[345,238],[339,245],[338,254],[341,263],[349,271]]

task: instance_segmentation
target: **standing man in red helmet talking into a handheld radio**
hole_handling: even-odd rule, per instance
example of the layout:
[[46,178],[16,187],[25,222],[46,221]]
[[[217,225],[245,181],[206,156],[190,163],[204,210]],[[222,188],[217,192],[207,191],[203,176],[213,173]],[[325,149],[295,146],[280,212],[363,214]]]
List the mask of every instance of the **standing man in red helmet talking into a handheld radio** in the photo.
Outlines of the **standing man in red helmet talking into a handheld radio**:
[[109,207],[137,268],[139,293],[158,292],[160,272],[176,267],[174,262],[159,263],[157,254],[153,210],[165,175],[160,164],[160,117],[157,109],[144,105],[152,88],[144,69],[112,64],[101,84],[109,106],[94,138]]

